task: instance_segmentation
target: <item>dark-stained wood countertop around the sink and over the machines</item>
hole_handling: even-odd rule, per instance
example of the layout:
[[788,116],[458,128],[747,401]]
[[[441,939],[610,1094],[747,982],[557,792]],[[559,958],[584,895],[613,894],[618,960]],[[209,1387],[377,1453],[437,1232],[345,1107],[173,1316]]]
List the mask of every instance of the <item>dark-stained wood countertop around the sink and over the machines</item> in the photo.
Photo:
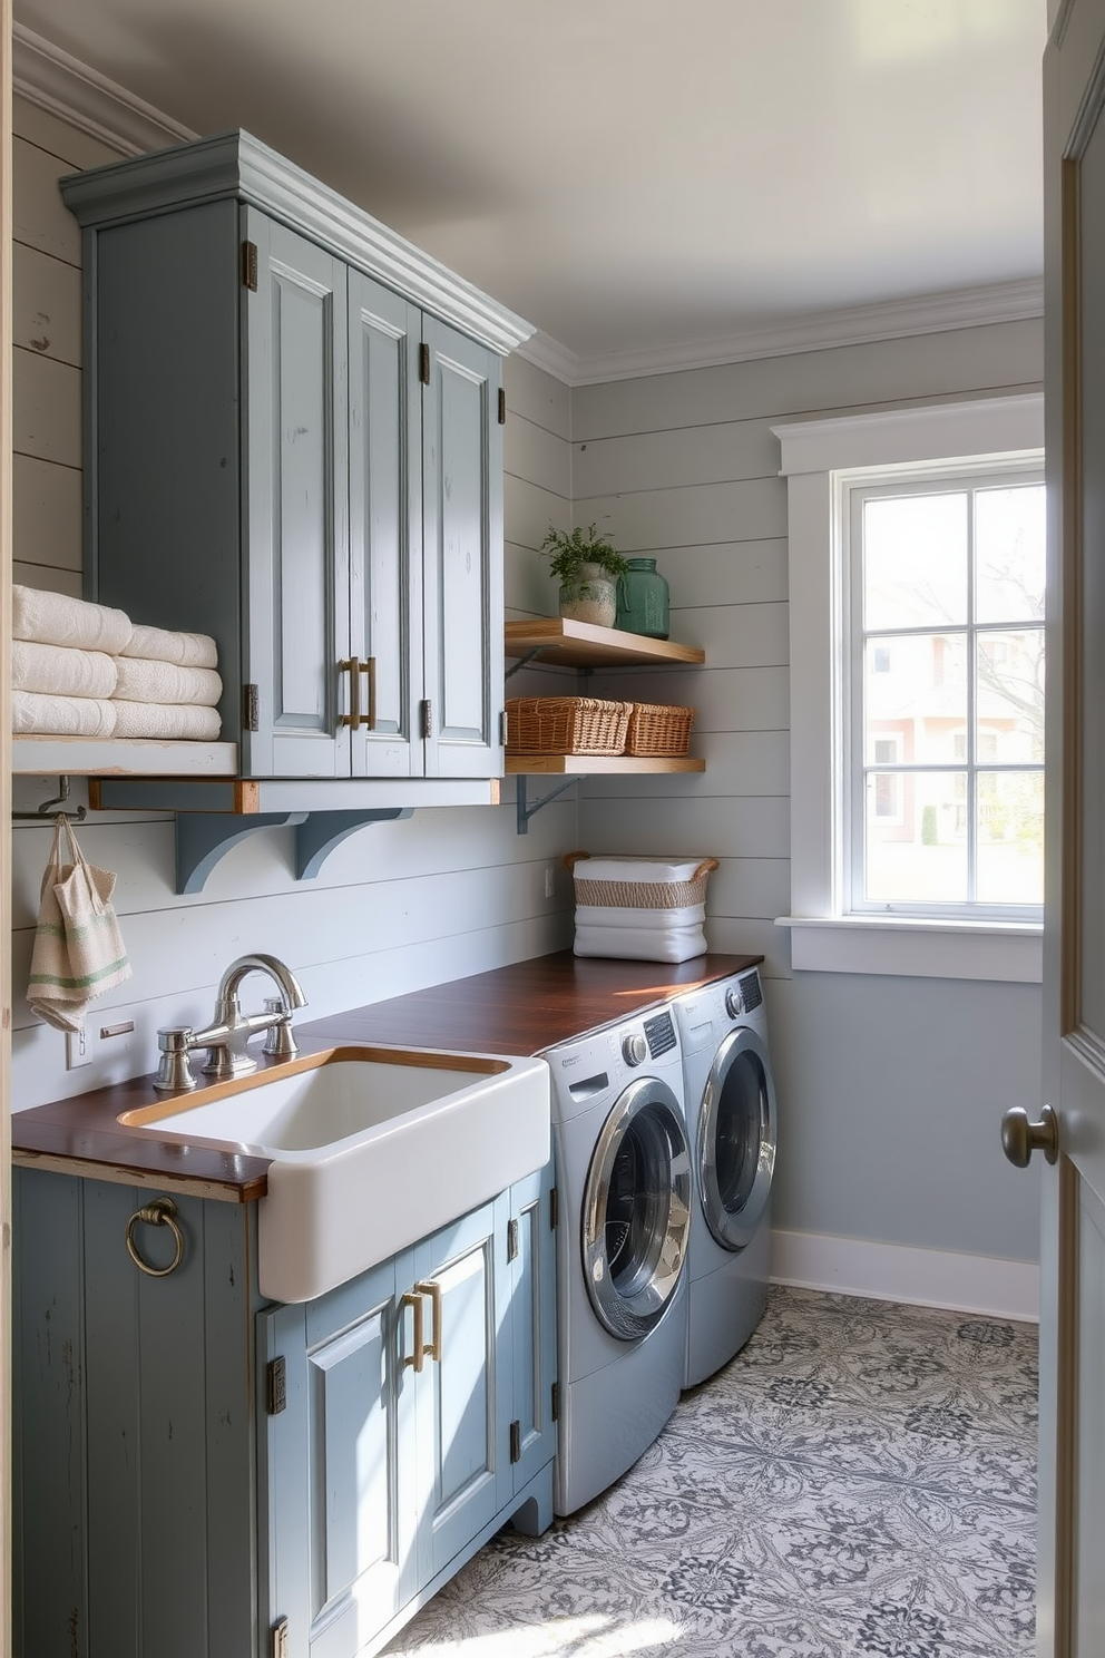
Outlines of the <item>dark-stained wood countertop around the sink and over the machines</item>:
[[[528,1056],[762,960],[762,955],[699,955],[669,967],[583,958],[562,950],[297,1025],[297,1038],[303,1053],[338,1043],[386,1043]],[[262,1069],[280,1066],[278,1059],[257,1058]],[[263,1197],[267,1157],[250,1157],[214,1141],[179,1146],[118,1121],[128,1111],[164,1106],[169,1098],[154,1089],[149,1074],[17,1111],[12,1161],[23,1169],[53,1169],[232,1204]],[[194,1093],[181,1103],[195,1099]]]

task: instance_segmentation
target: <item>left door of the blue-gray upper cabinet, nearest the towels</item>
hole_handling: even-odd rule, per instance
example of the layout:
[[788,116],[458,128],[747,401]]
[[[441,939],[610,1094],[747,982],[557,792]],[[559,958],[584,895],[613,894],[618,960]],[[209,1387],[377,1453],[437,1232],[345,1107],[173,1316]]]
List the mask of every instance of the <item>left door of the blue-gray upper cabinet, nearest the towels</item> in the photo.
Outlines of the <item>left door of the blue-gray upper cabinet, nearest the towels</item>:
[[245,209],[258,247],[247,313],[247,627],[257,776],[345,776],[348,653],[346,270]]

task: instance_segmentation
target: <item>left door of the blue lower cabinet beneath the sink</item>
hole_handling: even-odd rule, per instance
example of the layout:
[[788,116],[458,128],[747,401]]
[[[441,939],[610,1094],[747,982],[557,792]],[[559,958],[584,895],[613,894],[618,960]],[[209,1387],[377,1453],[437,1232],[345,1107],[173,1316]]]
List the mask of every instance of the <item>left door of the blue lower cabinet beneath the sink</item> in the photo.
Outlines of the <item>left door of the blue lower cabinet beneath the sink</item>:
[[414,1593],[396,1340],[394,1262],[260,1318],[262,1360],[287,1374],[268,1418],[270,1610],[297,1658],[351,1658]]

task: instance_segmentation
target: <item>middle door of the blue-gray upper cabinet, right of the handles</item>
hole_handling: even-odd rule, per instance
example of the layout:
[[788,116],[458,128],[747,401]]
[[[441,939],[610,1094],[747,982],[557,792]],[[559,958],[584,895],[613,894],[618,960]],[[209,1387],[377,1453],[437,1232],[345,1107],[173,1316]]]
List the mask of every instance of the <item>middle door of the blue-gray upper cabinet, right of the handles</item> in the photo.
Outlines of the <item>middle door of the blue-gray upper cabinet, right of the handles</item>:
[[[355,776],[422,769],[421,313],[350,270],[350,648],[374,665]],[[361,681],[361,710],[368,686]]]

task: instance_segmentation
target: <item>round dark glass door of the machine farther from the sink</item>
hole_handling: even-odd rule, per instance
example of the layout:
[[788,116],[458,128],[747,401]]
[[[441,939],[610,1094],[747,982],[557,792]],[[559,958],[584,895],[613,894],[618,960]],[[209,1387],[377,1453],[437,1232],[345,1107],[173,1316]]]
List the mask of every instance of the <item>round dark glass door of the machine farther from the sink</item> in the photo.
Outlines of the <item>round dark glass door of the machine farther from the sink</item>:
[[697,1134],[706,1225],[729,1250],[744,1248],[764,1217],[775,1169],[775,1084],[754,1030],[731,1031],[706,1079]]

